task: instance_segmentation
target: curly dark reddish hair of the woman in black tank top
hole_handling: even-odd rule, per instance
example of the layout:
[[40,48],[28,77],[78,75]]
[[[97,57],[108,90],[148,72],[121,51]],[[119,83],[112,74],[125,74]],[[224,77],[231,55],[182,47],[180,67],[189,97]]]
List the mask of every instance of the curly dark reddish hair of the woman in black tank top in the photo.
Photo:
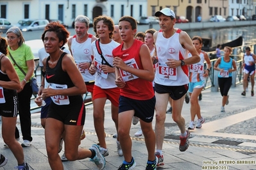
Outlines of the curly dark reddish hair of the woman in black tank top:
[[67,31],[67,29],[65,29],[65,27],[59,22],[50,22],[49,24],[47,24],[47,26],[44,28],[44,33],[42,34],[43,42],[44,42],[44,37],[46,36],[46,33],[48,31],[53,31],[56,33],[56,35],[58,36],[58,42],[63,41],[63,44],[61,47],[63,47],[65,43],[67,43],[67,38],[69,38],[69,31]]

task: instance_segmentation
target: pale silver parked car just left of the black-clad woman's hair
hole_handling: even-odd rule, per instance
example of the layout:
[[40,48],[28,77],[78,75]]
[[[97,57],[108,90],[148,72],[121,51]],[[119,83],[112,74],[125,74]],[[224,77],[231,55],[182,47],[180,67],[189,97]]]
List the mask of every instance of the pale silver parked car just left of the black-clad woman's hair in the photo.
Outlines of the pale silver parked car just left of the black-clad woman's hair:
[[44,30],[49,21],[46,19],[37,19],[37,20],[19,20],[18,24],[20,24],[19,28],[21,31],[37,31]]

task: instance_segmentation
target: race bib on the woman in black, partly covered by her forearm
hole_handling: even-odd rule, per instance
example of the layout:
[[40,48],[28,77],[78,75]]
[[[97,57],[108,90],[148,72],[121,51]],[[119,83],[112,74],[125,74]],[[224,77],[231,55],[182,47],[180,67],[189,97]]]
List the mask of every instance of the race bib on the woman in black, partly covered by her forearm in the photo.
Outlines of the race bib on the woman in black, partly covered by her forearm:
[[[66,84],[55,84],[55,83],[50,83],[49,88],[52,89],[67,89]],[[51,97],[51,100],[53,100],[53,103],[56,105],[69,105],[69,97],[64,96],[64,95],[56,95]]]

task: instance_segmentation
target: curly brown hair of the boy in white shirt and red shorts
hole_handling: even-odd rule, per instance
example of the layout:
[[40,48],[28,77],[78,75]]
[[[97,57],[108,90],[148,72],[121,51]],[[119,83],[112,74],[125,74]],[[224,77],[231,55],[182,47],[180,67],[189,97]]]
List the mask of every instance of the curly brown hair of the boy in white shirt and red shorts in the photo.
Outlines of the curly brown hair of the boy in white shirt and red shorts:
[[96,26],[97,26],[98,22],[101,20],[103,20],[103,24],[108,26],[108,30],[111,31],[109,33],[109,38],[112,39],[113,31],[114,31],[114,21],[110,17],[103,16],[103,15],[96,17],[93,20],[93,31],[94,31],[94,33],[96,33],[96,37],[99,38],[99,36],[97,35],[97,27]]

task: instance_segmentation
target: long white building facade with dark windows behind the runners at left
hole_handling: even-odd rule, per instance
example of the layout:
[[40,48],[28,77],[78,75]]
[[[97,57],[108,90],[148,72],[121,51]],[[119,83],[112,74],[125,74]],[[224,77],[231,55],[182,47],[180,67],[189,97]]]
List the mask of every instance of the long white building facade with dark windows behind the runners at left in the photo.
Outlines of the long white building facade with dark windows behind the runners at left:
[[77,15],[108,15],[118,24],[124,15],[139,20],[148,13],[146,6],[147,0],[0,0],[0,13],[12,24],[20,19],[59,19],[71,26]]

